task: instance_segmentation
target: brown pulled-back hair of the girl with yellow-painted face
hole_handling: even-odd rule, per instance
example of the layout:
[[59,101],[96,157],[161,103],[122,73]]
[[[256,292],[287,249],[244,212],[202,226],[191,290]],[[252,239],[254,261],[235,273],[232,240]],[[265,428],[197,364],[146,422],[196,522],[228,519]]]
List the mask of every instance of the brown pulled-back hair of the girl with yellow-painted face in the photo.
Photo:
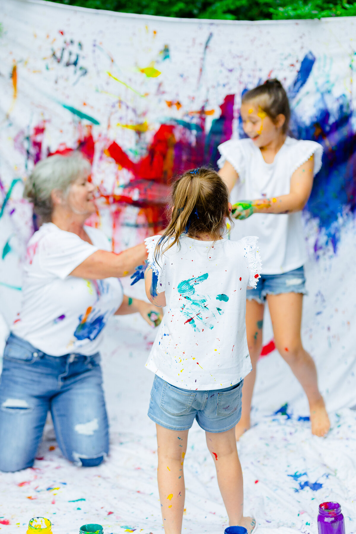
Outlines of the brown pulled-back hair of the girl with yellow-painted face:
[[290,107],[287,93],[279,80],[266,80],[262,85],[247,91],[242,96],[242,103],[257,101],[263,111],[275,122],[278,115],[284,115],[286,120],[282,126],[282,133],[288,132],[290,121]]

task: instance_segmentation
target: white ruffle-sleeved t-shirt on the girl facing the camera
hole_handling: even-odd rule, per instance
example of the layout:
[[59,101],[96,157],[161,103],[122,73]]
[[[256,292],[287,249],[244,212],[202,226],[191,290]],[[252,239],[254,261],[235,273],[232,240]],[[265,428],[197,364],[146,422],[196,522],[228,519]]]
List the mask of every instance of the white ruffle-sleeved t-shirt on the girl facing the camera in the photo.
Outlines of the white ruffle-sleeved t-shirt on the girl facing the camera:
[[[290,192],[290,179],[295,170],[314,154],[314,176],[321,168],[322,146],[314,141],[287,137],[275,155],[266,163],[251,139],[231,139],[218,146],[221,158],[232,164],[239,174],[231,191],[231,202],[279,197]],[[257,235],[263,263],[263,274],[280,274],[304,265],[307,260],[302,212],[289,214],[254,214],[236,220],[230,237],[239,240],[244,235]]]

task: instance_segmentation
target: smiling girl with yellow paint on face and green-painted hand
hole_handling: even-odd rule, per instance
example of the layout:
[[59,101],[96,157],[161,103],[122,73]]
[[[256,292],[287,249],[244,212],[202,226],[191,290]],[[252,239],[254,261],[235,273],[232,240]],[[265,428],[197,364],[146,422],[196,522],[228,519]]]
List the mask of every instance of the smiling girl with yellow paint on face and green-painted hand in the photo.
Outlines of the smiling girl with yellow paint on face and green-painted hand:
[[266,300],[276,348],[306,393],[312,433],[323,436],[330,422],[318,389],[315,364],[300,340],[302,300],[306,293],[303,265],[307,260],[301,212],[311,193],[313,177],[321,167],[322,147],[313,141],[287,136],[290,109],[286,91],[278,80],[267,80],[244,93],[241,118],[249,138],[231,139],[219,145],[219,175],[232,199],[240,201],[235,216],[241,222],[235,225],[232,239],[258,235],[263,272],[257,287],[247,292],[246,326],[252,372],[244,381],[236,439],[250,428]]

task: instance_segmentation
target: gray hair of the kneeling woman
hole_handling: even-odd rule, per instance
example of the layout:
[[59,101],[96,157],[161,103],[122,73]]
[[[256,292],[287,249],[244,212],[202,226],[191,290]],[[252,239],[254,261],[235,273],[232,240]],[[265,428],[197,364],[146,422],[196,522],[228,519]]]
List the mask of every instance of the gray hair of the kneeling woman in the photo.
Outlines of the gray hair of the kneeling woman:
[[69,155],[54,154],[39,161],[25,182],[23,198],[34,205],[34,212],[43,222],[50,222],[53,211],[51,193],[54,189],[64,195],[77,178],[88,176],[91,171],[89,161],[81,152]]

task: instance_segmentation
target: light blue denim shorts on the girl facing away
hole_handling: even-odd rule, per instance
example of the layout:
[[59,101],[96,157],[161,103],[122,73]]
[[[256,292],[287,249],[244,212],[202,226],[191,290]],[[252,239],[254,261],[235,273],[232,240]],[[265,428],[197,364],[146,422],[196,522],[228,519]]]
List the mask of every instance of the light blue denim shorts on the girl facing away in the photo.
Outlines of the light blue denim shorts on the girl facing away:
[[224,389],[193,391],[171,386],[155,375],[148,417],[169,430],[188,430],[196,419],[207,432],[225,432],[240,421],[242,384],[243,380]]

